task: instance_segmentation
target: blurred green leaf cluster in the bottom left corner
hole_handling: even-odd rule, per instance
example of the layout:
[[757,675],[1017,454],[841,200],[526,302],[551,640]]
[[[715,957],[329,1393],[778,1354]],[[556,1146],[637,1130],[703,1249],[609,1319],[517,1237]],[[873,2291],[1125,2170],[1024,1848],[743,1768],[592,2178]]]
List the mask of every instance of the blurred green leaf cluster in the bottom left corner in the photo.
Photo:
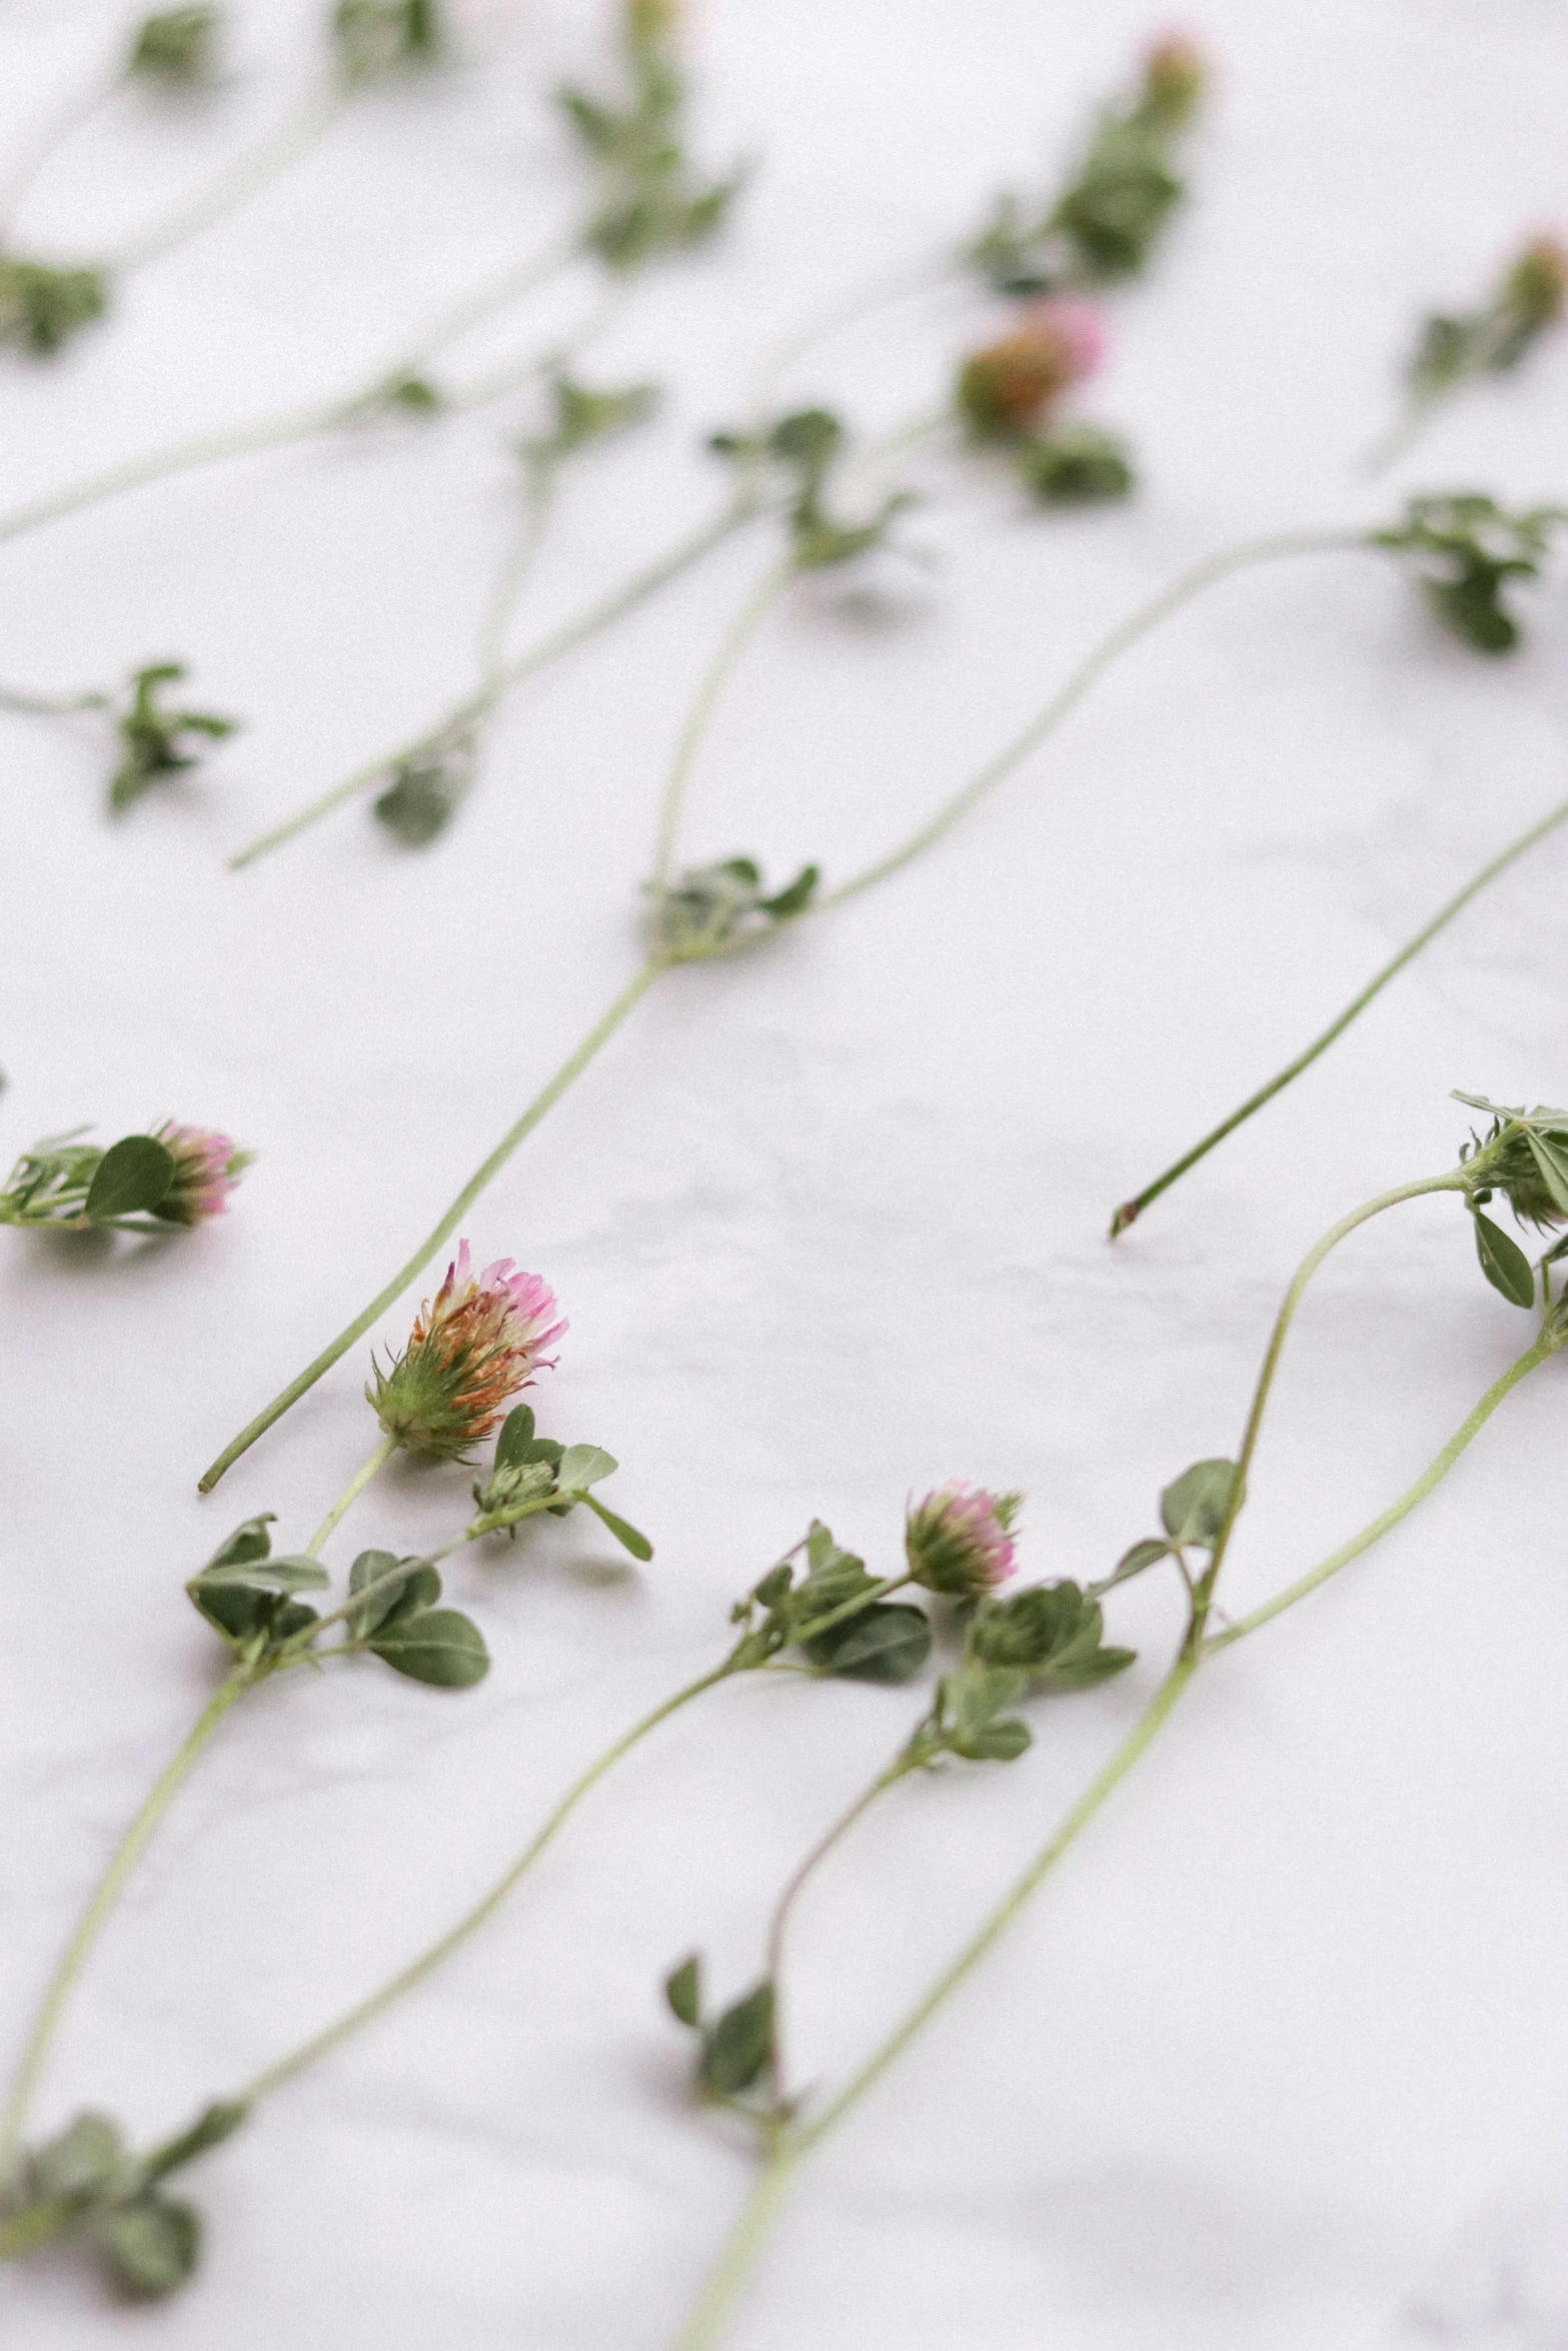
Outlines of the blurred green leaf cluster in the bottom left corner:
[[202,2219],[193,2205],[165,2196],[162,2182],[233,2137],[244,2111],[233,2102],[209,2106],[146,2156],[127,2149],[108,2114],[78,2114],[0,2184],[0,2259],[82,2236],[120,2292],[143,2302],[172,2295],[197,2264]]

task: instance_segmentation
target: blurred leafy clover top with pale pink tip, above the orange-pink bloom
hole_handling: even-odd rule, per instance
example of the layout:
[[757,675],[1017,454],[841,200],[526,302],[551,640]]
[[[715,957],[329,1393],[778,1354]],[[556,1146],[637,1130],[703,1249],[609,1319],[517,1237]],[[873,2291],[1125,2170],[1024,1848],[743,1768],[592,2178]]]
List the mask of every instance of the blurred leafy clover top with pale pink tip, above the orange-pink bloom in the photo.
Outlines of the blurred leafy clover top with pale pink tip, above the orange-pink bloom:
[[1159,42],[1128,99],[1107,106],[1067,186],[1044,205],[997,200],[969,261],[1001,294],[1135,277],[1185,195],[1175,150],[1204,89],[1204,61]]

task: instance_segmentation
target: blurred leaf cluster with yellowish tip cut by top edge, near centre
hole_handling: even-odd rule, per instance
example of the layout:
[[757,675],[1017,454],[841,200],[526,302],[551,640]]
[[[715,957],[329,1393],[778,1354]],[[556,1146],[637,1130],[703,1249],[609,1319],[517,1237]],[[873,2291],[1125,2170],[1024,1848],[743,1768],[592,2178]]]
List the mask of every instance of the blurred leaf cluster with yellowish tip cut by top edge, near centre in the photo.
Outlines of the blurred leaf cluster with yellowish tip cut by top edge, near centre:
[[588,155],[597,195],[585,245],[614,270],[712,237],[741,174],[705,179],[686,155],[686,75],[670,0],[625,0],[625,99],[564,87],[557,103]]

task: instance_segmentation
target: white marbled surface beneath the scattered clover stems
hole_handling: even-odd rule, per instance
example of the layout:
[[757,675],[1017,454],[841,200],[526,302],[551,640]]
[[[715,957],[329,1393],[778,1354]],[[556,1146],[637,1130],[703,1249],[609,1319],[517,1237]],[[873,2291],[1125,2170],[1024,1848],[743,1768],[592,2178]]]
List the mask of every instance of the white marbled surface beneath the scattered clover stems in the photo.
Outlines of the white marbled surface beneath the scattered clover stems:
[[[150,132],[127,106],[82,134],[31,242],[92,247],[193,186],[284,101],[306,16],[247,12],[247,78],[209,125]],[[118,21],[5,0],[7,139]],[[1131,0],[712,0],[703,148],[759,172],[733,235],[661,273],[595,353],[597,379],[658,376],[668,409],[578,475],[534,618],[696,517],[696,442],[769,336],[961,235],[999,183],[1051,176],[1147,31]],[[1418,310],[1469,299],[1521,230],[1568,214],[1563,9],[1208,0],[1197,31],[1220,59],[1197,197],[1114,303],[1086,402],[1133,435],[1143,496],[1046,520],[983,470],[933,473],[907,536],[936,569],[882,569],[875,611],[799,592],[759,642],[703,762],[693,853],[844,872],[1180,564],[1394,503],[1356,451]],[[543,92],[602,63],[599,14],[536,0],[480,33],[473,73],[367,101],[56,367],[7,360],[5,503],[353,383],[567,221]],[[520,313],[473,360],[588,299],[583,280]],[[990,324],[966,294],[889,313],[797,390],[884,430]],[[1561,496],[1566,386],[1559,339],[1394,487]],[[94,684],[179,654],[197,705],[247,715],[122,828],[96,741],[5,722],[5,1152],[165,1112],[263,1152],[233,1218],[190,1241],[0,1253],[7,2048],[209,1688],[181,1580],[249,1512],[308,1535],[374,1434],[364,1349],[209,1502],[197,1472],[630,971],[661,762],[766,560],[736,545],[508,705],[433,853],[350,813],[228,877],[223,851],[465,684],[510,515],[503,426],[529,421],[517,402],[261,458],[0,555],[7,677]],[[1234,1446],[1291,1265],[1363,1194],[1450,1161],[1446,1091],[1566,1096],[1563,844],[1114,1253],[1107,1211],[1561,797],[1561,588],[1530,618],[1528,651],[1483,665],[1378,562],[1248,578],[926,865],[656,992],[468,1227],[557,1286],[571,1338],[541,1415],[618,1453],[614,1500],[654,1568],[550,1528],[451,1580],[494,1648],[482,1690],[367,1669],[252,1700],[82,1984],[42,2123],[92,2102],[153,2137],[367,1989],[719,1653],[729,1599],[813,1512],[882,1566],[910,1491],[1018,1483],[1025,1570],[1093,1575],[1168,1476]],[[1399,1491],[1521,1328],[1453,1204],[1349,1246],[1286,1361],[1232,1603]],[[816,2163],[736,2351],[1556,2351],[1561,1408],[1547,1371],[1399,1538],[1206,1676]],[[393,1472],[336,1556],[440,1538],[463,1500],[461,1472]],[[1018,1770],[900,1791],[823,1876],[795,1947],[804,2076],[853,2064],[1131,1719],[1175,1610],[1140,1592],[1117,1622],[1147,1646],[1135,1674],[1037,1714]],[[771,1890],[917,1704],[738,1686],[693,1709],[437,1987],[190,2175],[209,2252],[183,2299],[118,2309],[75,2257],[40,2262],[0,2278],[9,2339],[658,2351],[743,2165],[686,2104],[656,1984],[693,1942],[724,1989],[750,1980]],[[1486,2266],[1514,2198],[1554,2196],[1526,2316],[1493,2323],[1465,2245],[1481,2229]]]

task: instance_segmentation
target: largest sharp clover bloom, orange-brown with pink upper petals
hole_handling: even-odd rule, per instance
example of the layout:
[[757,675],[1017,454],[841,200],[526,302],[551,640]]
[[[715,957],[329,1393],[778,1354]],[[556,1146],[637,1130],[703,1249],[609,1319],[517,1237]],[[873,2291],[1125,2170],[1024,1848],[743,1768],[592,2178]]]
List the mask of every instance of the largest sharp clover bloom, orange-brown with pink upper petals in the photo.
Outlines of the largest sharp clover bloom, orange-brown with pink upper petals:
[[564,1333],[543,1274],[520,1274],[510,1258],[473,1272],[458,1241],[435,1298],[414,1317],[409,1345],[364,1389],[376,1420],[409,1453],[465,1460],[501,1422],[505,1404],[550,1371],[545,1347]]

